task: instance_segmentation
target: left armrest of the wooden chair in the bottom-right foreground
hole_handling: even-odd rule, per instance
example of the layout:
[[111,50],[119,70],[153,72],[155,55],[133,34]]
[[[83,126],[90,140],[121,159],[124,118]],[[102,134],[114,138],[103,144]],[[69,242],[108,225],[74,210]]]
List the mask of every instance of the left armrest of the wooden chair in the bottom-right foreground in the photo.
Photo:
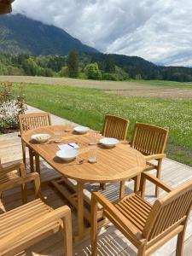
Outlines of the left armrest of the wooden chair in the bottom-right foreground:
[[115,218],[115,220],[119,223],[119,225],[126,230],[130,234],[130,236],[133,239],[143,240],[143,234],[140,230],[137,229],[125,216],[119,212],[119,210],[113,206],[113,204],[108,201],[107,198],[105,198],[101,193],[99,192],[93,192],[91,195],[91,200],[99,202],[102,207],[103,211],[108,212],[112,218]]

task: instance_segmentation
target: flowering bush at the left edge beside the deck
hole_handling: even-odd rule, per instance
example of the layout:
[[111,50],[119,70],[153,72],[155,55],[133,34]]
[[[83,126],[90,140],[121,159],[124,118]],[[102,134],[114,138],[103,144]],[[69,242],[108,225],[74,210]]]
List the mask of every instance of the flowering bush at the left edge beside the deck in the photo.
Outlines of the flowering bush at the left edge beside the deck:
[[25,110],[24,84],[20,84],[18,96],[15,96],[13,84],[0,84],[0,132],[18,129],[19,114]]

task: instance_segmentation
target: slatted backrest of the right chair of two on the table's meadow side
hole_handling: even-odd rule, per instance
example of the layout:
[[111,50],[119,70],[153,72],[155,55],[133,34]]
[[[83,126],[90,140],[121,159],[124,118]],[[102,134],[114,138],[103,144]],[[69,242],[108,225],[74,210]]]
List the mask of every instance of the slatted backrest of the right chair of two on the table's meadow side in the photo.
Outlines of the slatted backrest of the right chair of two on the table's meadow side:
[[131,137],[131,147],[142,154],[162,154],[166,148],[168,131],[154,125],[136,123]]

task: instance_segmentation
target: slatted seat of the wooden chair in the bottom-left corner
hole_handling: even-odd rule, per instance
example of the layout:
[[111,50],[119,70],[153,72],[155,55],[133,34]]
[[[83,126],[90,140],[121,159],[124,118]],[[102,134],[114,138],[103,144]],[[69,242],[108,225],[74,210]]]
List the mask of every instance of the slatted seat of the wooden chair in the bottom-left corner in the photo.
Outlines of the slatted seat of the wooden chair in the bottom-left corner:
[[[16,228],[22,224],[27,224],[35,218],[43,217],[44,214],[53,211],[43,201],[37,199],[29,202],[26,205],[13,209],[9,212],[5,212],[0,215],[0,239],[4,236],[8,236],[13,233]],[[15,241],[15,244],[22,244],[24,241],[30,241],[33,237],[37,237],[48,232],[49,230],[56,231],[56,228],[60,226],[58,221],[54,221],[45,225],[44,228],[37,229],[35,232],[30,233],[28,236],[23,237],[20,241]],[[58,229],[57,229],[58,230]],[[14,245],[13,245],[14,246]]]

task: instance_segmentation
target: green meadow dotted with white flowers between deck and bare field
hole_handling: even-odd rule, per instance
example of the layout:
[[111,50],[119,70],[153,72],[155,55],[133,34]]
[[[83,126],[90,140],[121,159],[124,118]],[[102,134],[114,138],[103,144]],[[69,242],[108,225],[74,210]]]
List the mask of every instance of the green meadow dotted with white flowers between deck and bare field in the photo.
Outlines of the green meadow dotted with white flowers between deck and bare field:
[[[15,90],[18,87],[15,86]],[[104,115],[111,113],[135,122],[169,129],[169,158],[192,166],[192,101],[117,96],[102,90],[63,85],[26,84],[29,105],[93,129],[102,129]]]

